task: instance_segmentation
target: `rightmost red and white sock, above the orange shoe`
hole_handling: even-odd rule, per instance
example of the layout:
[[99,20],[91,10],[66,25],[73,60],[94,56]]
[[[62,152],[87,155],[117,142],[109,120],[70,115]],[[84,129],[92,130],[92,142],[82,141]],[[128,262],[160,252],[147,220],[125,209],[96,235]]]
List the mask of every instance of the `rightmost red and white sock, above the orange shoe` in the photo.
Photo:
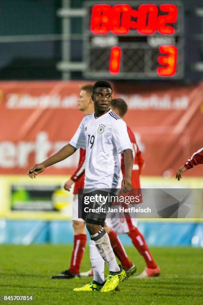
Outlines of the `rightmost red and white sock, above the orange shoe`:
[[146,241],[144,239],[144,236],[140,233],[138,228],[135,228],[131,230],[128,233],[128,236],[131,238],[133,245],[136,247],[138,252],[143,256],[147,267],[150,269],[155,269],[157,268],[157,264],[155,263],[149,248],[146,244]]

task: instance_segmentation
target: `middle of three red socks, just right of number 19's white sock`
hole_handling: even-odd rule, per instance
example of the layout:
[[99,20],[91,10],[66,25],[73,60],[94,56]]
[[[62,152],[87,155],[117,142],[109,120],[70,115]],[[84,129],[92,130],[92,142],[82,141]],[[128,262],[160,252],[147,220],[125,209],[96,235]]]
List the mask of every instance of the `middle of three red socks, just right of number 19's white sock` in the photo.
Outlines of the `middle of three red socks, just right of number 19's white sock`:
[[129,269],[132,266],[132,262],[129,260],[121,241],[119,240],[117,234],[111,229],[108,233],[110,244],[113,252],[121,262],[123,269]]

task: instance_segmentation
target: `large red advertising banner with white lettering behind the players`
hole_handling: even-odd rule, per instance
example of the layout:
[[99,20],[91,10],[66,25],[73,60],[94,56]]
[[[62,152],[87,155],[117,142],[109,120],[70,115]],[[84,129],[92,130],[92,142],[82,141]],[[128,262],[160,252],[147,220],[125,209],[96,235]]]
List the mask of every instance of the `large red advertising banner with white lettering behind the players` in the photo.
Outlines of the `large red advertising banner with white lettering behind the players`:
[[[25,174],[74,135],[84,82],[0,82],[0,174]],[[203,84],[113,86],[128,104],[125,117],[145,158],[144,175],[173,176],[203,147]],[[44,174],[71,174],[77,154]],[[197,166],[189,175],[202,175]]]

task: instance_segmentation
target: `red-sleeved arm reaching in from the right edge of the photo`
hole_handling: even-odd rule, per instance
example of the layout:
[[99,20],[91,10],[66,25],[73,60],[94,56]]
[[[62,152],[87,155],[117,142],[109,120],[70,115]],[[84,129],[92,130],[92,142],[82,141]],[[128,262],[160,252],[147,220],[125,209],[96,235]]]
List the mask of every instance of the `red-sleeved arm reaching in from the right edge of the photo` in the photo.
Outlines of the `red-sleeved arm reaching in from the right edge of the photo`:
[[179,168],[179,170],[176,173],[176,179],[178,181],[182,178],[182,174],[190,169],[193,168],[193,166],[196,166],[198,164],[203,164],[203,148],[201,148],[199,151],[194,152],[193,155],[191,156],[186,163]]

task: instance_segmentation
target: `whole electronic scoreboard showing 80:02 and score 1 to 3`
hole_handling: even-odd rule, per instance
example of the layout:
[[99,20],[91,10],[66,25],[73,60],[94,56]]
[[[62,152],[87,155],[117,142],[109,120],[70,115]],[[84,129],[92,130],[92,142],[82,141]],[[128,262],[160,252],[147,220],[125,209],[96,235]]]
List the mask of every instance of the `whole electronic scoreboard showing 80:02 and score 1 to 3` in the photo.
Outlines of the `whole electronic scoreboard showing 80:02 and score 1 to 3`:
[[181,1],[88,1],[85,7],[85,78],[183,78]]

